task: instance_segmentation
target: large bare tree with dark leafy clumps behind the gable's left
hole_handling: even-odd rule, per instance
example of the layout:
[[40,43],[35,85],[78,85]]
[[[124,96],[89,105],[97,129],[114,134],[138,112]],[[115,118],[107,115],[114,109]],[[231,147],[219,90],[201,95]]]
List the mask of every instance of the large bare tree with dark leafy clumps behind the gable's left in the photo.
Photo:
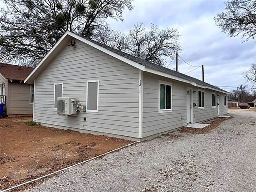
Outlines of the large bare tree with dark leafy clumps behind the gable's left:
[[0,58],[35,66],[65,31],[85,37],[106,26],[108,17],[123,20],[132,0],[4,0],[0,9]]

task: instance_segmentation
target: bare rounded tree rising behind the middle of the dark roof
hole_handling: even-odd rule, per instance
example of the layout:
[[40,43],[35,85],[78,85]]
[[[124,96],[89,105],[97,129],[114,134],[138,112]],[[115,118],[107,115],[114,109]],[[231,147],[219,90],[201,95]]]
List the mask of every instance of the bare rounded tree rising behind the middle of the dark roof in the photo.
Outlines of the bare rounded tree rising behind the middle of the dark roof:
[[[102,37],[104,35],[108,37]],[[92,38],[117,50],[163,66],[166,64],[164,57],[173,58],[176,52],[182,50],[178,42],[179,37],[177,28],[160,30],[158,26],[152,24],[150,30],[147,30],[142,22],[138,22],[127,34],[111,30],[94,35]]]

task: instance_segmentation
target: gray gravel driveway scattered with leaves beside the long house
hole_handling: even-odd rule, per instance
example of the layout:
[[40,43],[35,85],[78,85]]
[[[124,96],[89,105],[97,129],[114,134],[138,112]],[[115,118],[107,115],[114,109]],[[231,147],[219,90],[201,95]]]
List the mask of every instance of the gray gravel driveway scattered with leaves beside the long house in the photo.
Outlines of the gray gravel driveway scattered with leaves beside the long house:
[[[208,134],[162,136],[71,168],[30,192],[255,192],[256,112]],[[180,134],[180,133],[178,133]]]

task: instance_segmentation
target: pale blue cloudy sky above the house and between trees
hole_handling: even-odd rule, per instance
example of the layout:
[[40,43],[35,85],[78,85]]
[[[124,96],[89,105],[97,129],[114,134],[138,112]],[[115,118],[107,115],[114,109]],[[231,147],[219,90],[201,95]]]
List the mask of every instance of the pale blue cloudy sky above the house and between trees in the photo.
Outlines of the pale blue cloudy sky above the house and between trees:
[[[129,31],[137,21],[150,28],[154,23],[161,29],[177,27],[183,51],[180,56],[189,64],[204,64],[205,81],[233,90],[245,79],[241,73],[256,63],[256,44],[231,38],[215,26],[213,17],[224,10],[224,0],[134,0],[134,9],[124,11],[124,22],[108,20],[111,28]],[[169,60],[168,62],[170,62]],[[175,62],[169,66],[175,67]],[[194,68],[179,60],[179,71]],[[202,79],[202,69],[187,75]],[[224,87],[228,86],[228,87]]]

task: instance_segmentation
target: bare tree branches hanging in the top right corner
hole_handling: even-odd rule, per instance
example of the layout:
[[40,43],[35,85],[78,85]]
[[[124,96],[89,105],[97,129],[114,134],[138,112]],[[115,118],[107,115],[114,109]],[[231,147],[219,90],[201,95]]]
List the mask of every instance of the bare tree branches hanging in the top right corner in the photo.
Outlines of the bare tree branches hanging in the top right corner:
[[245,41],[256,37],[256,0],[225,2],[225,12],[218,13],[215,22],[230,37],[242,35]]

